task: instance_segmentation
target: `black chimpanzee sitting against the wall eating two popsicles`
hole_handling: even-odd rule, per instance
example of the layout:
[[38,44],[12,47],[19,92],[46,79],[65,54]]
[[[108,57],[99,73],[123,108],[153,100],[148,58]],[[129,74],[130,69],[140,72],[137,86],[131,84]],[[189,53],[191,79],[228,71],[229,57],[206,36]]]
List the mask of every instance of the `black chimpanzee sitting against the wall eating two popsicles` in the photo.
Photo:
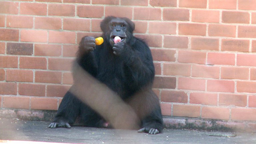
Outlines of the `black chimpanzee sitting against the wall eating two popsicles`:
[[[152,91],[155,71],[149,47],[133,36],[135,24],[128,18],[108,16],[100,28],[103,44],[96,45],[94,37],[83,37],[75,62],[134,109],[140,118],[138,132],[158,134],[163,129],[163,120],[159,99]],[[118,43],[114,42],[116,36],[121,38]],[[134,95],[138,100],[131,100]],[[77,117],[84,126],[105,127],[106,124],[102,116],[68,91],[48,127],[71,128]]]

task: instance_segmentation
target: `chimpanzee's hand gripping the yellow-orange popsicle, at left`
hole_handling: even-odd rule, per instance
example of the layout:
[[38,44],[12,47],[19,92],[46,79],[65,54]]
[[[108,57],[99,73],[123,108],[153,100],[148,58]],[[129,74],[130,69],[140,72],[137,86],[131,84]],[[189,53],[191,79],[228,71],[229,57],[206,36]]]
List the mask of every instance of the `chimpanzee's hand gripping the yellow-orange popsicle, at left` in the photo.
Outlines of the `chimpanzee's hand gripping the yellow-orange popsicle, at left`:
[[80,42],[80,48],[86,53],[91,52],[95,49],[95,38],[91,36],[83,37]]

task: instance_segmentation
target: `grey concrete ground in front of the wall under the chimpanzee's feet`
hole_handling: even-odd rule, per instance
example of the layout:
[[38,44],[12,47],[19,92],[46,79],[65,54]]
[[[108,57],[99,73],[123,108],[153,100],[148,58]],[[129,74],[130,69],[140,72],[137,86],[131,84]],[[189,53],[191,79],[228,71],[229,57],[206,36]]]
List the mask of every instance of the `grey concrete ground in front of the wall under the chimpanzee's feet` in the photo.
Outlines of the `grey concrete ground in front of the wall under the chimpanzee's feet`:
[[78,144],[256,144],[255,133],[164,129],[161,134],[150,135],[136,130],[80,126],[51,129],[48,124],[50,122],[0,119],[0,143],[6,142],[1,140],[25,140]]

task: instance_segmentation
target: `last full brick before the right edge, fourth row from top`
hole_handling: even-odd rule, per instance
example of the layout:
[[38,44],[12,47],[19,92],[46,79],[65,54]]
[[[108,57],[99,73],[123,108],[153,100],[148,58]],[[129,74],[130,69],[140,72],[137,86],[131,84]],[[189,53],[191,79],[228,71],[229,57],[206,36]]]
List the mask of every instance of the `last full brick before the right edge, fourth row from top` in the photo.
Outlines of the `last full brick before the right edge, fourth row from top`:
[[221,43],[222,51],[239,51],[249,52],[250,41],[249,40],[229,40],[223,39]]

